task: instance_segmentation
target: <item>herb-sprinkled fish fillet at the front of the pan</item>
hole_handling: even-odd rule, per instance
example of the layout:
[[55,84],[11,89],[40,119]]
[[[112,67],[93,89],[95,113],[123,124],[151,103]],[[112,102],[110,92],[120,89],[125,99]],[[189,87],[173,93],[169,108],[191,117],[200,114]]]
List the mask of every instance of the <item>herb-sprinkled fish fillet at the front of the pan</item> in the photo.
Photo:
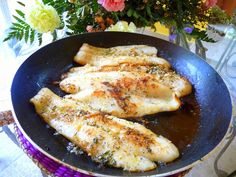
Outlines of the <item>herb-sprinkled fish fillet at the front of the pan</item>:
[[148,171],[154,162],[171,162],[178,149],[138,123],[92,111],[47,88],[30,100],[36,112],[93,160],[128,171]]

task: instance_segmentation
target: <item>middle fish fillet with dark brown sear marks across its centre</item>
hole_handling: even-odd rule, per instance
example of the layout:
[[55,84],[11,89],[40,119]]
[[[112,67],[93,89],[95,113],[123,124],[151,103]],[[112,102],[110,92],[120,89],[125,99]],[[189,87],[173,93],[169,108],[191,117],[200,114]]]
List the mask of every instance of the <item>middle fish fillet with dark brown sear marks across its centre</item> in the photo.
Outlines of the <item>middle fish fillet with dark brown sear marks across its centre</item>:
[[122,118],[174,111],[180,107],[174,92],[147,73],[111,71],[70,75],[60,82],[60,88],[73,93],[66,98]]

